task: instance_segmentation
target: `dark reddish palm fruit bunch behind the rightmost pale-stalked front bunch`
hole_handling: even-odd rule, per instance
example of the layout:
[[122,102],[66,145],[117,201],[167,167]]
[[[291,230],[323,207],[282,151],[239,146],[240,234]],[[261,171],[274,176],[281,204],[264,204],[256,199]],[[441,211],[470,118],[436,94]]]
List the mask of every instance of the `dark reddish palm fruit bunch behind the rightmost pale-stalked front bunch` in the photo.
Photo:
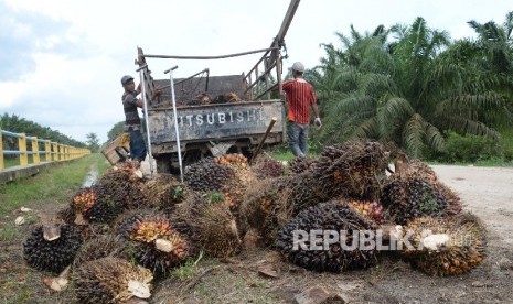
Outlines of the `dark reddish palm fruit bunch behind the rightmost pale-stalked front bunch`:
[[391,175],[380,202],[385,208],[385,217],[398,225],[421,216],[443,216],[448,206],[440,192],[419,175]]

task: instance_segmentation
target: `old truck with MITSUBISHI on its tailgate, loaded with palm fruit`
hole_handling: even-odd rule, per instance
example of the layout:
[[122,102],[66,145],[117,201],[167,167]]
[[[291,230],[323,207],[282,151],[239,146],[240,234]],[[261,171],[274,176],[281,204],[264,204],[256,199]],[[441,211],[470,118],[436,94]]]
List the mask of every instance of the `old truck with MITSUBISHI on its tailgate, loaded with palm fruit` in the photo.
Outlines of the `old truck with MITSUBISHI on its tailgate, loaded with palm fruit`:
[[[138,64],[143,67],[141,83],[145,84],[149,141],[157,172],[177,173],[175,127],[183,165],[224,153],[242,153],[249,158],[260,142],[268,145],[285,142],[285,104],[280,98],[272,98],[278,94],[271,89],[281,86],[281,82],[270,84],[269,72],[258,75],[253,86],[250,77],[244,74],[210,76],[207,69],[193,77],[173,79],[175,126],[170,79],[152,78],[141,48],[138,48]],[[152,99],[156,88],[161,88],[161,94]],[[274,118],[276,122],[266,133]]]

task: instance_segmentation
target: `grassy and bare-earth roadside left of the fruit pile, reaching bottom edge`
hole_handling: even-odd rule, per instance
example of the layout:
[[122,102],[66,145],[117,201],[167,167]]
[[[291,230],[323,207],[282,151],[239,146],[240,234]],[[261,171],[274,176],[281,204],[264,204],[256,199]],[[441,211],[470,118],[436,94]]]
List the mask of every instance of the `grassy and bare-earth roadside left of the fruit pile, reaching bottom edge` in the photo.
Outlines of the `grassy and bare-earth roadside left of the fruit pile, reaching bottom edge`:
[[[92,170],[101,176],[110,165],[101,154],[55,164],[38,175],[0,185],[0,303],[72,303],[73,294],[50,294],[43,284],[51,273],[36,271],[23,261],[23,241],[41,221],[68,204]],[[32,211],[21,213],[21,207]],[[23,216],[24,225],[14,218]]]

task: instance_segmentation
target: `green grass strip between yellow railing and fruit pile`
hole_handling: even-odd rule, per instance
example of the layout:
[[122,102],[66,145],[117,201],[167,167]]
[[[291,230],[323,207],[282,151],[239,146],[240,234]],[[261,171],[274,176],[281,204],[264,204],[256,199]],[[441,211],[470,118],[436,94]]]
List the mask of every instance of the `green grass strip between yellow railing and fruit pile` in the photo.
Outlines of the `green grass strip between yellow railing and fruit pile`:
[[99,176],[110,166],[99,153],[56,163],[33,177],[0,185],[0,216],[21,206],[30,207],[38,202],[63,203],[81,188],[88,172],[96,167]]

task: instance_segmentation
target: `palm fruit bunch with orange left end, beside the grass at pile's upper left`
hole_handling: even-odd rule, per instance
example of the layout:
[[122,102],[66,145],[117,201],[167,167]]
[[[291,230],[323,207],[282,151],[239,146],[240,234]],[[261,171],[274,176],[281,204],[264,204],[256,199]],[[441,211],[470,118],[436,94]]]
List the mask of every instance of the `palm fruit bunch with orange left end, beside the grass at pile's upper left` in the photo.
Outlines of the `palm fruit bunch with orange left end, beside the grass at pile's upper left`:
[[71,207],[90,222],[110,222],[124,210],[118,193],[101,185],[79,189],[72,198]]

